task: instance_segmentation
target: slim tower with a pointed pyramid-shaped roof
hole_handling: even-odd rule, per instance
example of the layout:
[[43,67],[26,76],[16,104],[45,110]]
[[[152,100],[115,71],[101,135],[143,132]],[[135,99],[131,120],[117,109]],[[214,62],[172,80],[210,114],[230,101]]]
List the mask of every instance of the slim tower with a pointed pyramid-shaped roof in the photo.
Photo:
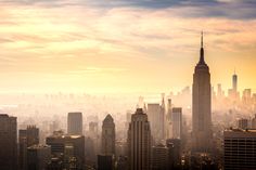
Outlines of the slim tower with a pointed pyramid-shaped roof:
[[103,120],[101,142],[103,155],[115,155],[115,123],[110,114]]

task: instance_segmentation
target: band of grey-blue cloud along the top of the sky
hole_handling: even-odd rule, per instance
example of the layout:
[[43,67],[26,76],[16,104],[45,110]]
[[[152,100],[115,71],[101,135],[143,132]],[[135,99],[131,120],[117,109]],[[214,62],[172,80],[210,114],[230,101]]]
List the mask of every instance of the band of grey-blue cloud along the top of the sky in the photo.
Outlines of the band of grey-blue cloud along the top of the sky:
[[170,9],[183,17],[256,18],[256,2],[253,0],[3,0],[1,3],[47,8],[90,6],[100,8],[103,11],[116,8],[137,8],[152,11]]

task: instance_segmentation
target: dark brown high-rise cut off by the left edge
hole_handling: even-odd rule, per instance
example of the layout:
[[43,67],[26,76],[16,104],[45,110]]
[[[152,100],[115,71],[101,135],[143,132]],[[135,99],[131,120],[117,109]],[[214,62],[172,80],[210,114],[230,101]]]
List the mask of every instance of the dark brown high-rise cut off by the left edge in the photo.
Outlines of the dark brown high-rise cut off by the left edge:
[[17,122],[16,117],[0,114],[0,169],[17,168]]

